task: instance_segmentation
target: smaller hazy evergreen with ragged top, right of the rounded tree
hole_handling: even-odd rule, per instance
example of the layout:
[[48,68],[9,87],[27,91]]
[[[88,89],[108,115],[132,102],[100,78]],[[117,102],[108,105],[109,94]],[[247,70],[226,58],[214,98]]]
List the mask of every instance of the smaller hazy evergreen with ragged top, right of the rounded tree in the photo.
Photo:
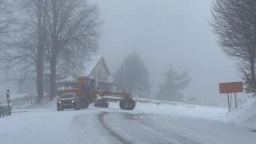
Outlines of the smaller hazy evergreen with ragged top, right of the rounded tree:
[[191,80],[188,73],[178,74],[170,66],[164,77],[164,84],[159,84],[157,98],[164,101],[182,101],[182,94],[179,91],[189,85]]

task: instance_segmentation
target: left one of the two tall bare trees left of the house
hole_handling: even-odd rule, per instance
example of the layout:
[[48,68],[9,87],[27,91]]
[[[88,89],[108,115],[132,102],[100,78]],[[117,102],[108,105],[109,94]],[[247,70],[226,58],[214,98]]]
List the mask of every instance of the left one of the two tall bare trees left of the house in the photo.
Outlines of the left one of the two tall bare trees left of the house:
[[[15,41],[5,50],[5,69],[11,70],[14,79],[36,80],[37,102],[43,98],[43,52],[46,37],[46,16],[43,7],[47,0],[19,1],[22,17],[17,22]],[[22,10],[20,10],[22,9]]]

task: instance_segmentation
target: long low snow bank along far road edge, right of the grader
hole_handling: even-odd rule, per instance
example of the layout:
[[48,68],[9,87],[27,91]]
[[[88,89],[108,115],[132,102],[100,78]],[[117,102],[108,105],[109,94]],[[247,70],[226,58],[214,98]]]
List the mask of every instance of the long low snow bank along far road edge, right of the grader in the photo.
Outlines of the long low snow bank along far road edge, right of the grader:
[[[192,118],[206,118],[227,122],[227,108],[216,108],[202,105],[187,105],[175,101],[157,101],[135,98],[136,107],[134,112],[152,113],[155,115],[179,115]],[[110,104],[109,108],[119,108],[118,103]]]

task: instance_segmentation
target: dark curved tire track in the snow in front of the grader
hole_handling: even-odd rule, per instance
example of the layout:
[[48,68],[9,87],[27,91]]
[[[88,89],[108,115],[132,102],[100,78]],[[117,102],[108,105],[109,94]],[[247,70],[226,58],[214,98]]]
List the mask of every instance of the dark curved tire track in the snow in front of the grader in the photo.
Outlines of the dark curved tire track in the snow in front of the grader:
[[116,137],[116,139],[118,139],[120,142],[123,142],[125,144],[132,144],[133,142],[130,142],[127,139],[124,139],[122,135],[119,135],[117,132],[115,132],[114,130],[112,130],[104,121],[104,115],[107,115],[108,112],[104,111],[104,112],[100,112],[99,113],[99,122],[101,122],[102,126],[114,137]]

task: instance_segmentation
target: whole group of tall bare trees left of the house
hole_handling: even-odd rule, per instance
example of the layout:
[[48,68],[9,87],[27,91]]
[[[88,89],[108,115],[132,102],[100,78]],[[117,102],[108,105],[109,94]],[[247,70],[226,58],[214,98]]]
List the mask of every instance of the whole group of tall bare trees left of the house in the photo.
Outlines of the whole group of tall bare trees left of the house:
[[87,0],[0,0],[0,17],[2,69],[35,81],[37,102],[43,85],[54,98],[57,75],[81,70],[98,49],[99,8]]

